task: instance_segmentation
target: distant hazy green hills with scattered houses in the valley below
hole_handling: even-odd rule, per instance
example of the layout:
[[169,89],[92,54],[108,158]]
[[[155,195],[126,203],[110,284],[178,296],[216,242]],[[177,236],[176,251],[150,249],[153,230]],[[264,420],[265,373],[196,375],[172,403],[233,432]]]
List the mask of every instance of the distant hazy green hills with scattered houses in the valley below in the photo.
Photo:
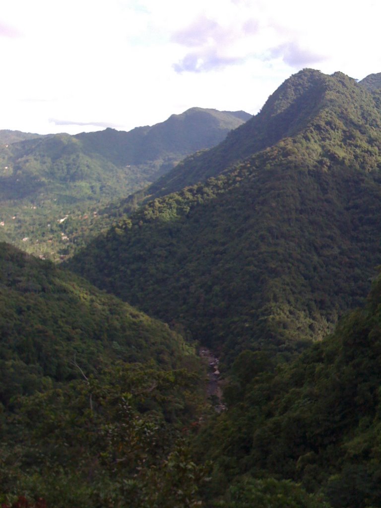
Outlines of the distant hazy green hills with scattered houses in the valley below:
[[185,155],[218,143],[245,117],[250,115],[193,108],[128,133],[106,129],[5,143],[1,238],[44,258],[67,257],[112,223],[100,213],[106,205],[152,182]]

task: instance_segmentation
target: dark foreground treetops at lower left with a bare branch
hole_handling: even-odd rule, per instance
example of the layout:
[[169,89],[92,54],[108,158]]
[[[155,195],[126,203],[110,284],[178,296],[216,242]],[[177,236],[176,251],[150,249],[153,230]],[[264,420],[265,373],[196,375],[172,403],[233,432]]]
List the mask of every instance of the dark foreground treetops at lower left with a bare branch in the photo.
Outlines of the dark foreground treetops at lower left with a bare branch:
[[3,440],[3,491],[57,508],[199,506],[208,465],[193,462],[182,431],[197,417],[195,379],[120,362],[19,398],[6,432],[12,446]]

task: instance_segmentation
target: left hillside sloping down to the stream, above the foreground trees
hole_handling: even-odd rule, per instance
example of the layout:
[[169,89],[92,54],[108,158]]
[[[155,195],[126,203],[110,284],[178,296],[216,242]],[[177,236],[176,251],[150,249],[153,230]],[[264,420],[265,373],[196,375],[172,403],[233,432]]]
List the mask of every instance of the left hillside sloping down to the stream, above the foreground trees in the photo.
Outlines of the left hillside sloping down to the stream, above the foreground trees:
[[164,323],[87,281],[0,244],[0,402],[116,361],[179,366],[190,350]]

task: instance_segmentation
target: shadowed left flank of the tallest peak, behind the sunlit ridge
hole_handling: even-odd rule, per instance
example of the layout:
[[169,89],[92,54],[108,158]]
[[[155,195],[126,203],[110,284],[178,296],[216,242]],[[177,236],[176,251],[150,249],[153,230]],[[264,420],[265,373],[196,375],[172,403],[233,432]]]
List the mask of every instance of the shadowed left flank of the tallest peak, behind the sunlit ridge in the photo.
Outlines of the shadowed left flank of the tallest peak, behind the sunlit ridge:
[[261,112],[231,132],[214,149],[188,157],[154,182],[147,194],[162,196],[186,185],[205,182],[252,153],[295,135],[323,108],[323,99],[335,79],[305,69],[285,81],[268,99]]

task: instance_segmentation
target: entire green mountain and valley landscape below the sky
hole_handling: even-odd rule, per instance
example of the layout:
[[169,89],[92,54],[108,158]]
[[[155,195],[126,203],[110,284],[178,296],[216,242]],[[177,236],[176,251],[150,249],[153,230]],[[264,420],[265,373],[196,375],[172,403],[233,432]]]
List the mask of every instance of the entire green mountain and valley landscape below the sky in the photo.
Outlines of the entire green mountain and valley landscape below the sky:
[[381,505],[380,76],[0,133],[2,507]]

